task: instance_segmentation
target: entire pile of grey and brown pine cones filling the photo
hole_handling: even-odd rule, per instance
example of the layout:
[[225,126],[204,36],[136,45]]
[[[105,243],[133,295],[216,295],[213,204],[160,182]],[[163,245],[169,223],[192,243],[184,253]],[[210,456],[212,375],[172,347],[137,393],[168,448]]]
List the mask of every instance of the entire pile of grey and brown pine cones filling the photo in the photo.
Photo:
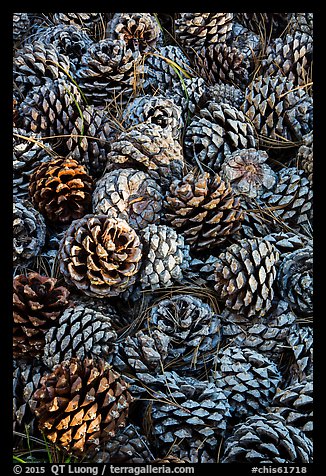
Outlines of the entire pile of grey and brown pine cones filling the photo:
[[13,32],[15,454],[312,462],[312,14]]

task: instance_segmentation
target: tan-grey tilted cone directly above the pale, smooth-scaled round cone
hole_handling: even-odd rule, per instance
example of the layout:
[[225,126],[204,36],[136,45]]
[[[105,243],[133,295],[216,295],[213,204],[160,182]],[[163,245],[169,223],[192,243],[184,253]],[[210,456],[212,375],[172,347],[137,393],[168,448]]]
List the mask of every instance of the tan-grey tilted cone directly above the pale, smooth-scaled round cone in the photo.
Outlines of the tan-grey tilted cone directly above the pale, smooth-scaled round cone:
[[122,132],[110,144],[107,172],[120,167],[139,168],[166,189],[172,178],[181,178],[184,160],[181,145],[156,124],[143,123]]

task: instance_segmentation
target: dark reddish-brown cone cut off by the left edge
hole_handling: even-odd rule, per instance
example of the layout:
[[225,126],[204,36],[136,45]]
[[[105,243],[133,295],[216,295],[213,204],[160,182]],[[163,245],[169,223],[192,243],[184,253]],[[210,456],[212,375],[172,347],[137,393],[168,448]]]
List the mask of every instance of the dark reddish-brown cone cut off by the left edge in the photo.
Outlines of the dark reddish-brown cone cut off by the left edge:
[[45,333],[56,325],[69,305],[69,291],[55,278],[32,272],[13,280],[13,355],[14,358],[39,357]]

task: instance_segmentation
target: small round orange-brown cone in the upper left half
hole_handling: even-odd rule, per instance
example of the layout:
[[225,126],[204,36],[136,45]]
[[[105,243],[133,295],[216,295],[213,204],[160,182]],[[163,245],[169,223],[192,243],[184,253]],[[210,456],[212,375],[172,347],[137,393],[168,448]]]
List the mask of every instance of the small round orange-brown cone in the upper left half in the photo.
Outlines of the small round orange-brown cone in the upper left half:
[[33,205],[53,223],[71,223],[91,210],[93,180],[71,157],[40,164],[30,177]]

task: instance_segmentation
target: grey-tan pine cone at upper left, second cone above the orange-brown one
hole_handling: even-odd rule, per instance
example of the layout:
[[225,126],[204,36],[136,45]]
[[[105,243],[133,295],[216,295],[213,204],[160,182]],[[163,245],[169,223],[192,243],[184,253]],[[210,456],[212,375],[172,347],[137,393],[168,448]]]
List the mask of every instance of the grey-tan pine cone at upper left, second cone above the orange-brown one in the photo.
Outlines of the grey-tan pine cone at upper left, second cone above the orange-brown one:
[[42,136],[70,134],[83,107],[77,86],[63,79],[35,86],[20,105],[23,127]]

